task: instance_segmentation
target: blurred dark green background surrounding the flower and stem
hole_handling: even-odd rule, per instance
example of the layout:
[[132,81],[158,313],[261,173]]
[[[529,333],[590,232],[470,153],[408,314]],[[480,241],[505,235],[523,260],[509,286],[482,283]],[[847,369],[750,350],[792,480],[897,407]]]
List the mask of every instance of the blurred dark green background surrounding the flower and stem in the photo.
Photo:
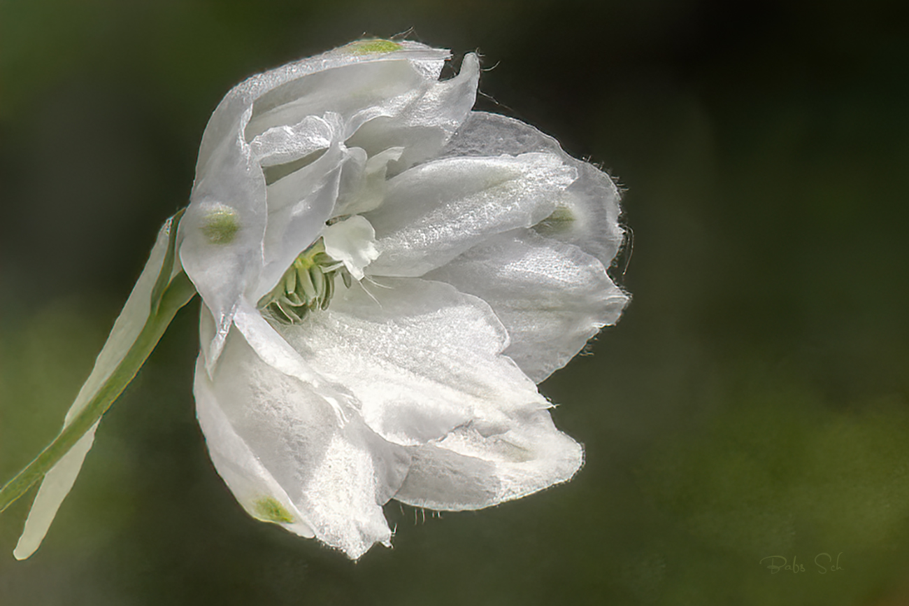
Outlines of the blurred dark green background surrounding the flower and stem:
[[409,27],[479,49],[479,106],[608,168],[635,235],[624,318],[541,387],[585,444],[569,484],[392,502],[395,549],[358,563],[251,520],[195,423],[193,304],[32,559],[33,493],[0,516],[0,604],[909,603],[906,7],[0,0],[2,480],[59,429],[212,109],[267,67]]

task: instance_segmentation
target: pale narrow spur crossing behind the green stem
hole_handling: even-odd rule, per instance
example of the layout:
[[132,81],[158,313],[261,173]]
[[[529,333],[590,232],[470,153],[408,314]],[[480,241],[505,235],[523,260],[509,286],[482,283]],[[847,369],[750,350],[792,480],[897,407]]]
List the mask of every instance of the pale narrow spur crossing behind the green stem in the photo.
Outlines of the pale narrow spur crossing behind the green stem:
[[[164,227],[158,232],[155,240],[155,246],[149,255],[148,261],[142,274],[135,282],[135,287],[130,293],[129,298],[116,318],[114,328],[111,329],[107,337],[104,348],[98,354],[95,360],[95,368],[92,373],[85,379],[82,389],[79,389],[73,405],[66,412],[64,427],[70,424],[77,414],[79,414],[85,405],[95,397],[98,389],[104,385],[105,381],[110,378],[116,367],[126,356],[129,348],[139,336],[148,315],[151,311],[149,304],[152,296],[152,290],[155,288],[155,282],[161,273],[164,263],[165,253],[170,239],[171,221],[167,221]],[[181,271],[179,261],[176,261],[171,271],[170,278]],[[73,488],[79,470],[82,469],[82,463],[85,455],[92,448],[95,439],[95,427],[90,429],[85,435],[75,443],[73,449],[57,461],[56,465],[51,468],[45,475],[41,483],[41,488],[32,503],[32,509],[29,511],[28,519],[25,520],[25,529],[22,531],[22,537],[15,549],[15,557],[23,560],[30,556],[41,545],[51,522],[54,520],[57,510],[63,503],[69,490]]]

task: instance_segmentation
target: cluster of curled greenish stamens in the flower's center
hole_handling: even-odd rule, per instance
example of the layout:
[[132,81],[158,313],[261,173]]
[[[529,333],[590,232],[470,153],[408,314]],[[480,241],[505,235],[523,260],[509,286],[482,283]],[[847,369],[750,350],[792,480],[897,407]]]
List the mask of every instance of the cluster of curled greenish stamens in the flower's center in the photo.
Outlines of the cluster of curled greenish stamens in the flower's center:
[[325,242],[320,237],[295,259],[277,286],[259,299],[258,308],[268,310],[276,320],[285,324],[301,322],[310,311],[328,308],[338,274],[345,287],[350,288],[350,272],[344,263],[328,256]]

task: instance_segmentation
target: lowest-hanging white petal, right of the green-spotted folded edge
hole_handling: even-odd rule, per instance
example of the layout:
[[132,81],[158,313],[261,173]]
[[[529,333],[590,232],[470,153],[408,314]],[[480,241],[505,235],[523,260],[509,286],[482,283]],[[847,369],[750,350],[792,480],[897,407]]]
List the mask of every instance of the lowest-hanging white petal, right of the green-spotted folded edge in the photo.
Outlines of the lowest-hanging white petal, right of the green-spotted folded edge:
[[[344,426],[337,423],[317,389],[265,364],[235,331],[215,369],[212,392],[233,433],[319,540],[353,559],[375,542],[388,543],[382,505],[404,480],[404,449],[375,436],[356,416]],[[245,460],[245,452],[215,445],[218,438],[207,431],[206,439],[226,460]]]

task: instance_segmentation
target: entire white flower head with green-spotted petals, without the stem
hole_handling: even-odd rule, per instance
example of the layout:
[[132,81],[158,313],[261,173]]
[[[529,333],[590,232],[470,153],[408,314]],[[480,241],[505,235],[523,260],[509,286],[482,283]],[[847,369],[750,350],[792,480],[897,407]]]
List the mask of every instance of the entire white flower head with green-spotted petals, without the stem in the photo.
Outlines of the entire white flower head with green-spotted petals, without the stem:
[[471,112],[479,63],[367,40],[236,86],[203,137],[180,259],[195,397],[251,515],[359,558],[382,506],[471,510],[583,462],[534,382],[613,324],[613,182]]

